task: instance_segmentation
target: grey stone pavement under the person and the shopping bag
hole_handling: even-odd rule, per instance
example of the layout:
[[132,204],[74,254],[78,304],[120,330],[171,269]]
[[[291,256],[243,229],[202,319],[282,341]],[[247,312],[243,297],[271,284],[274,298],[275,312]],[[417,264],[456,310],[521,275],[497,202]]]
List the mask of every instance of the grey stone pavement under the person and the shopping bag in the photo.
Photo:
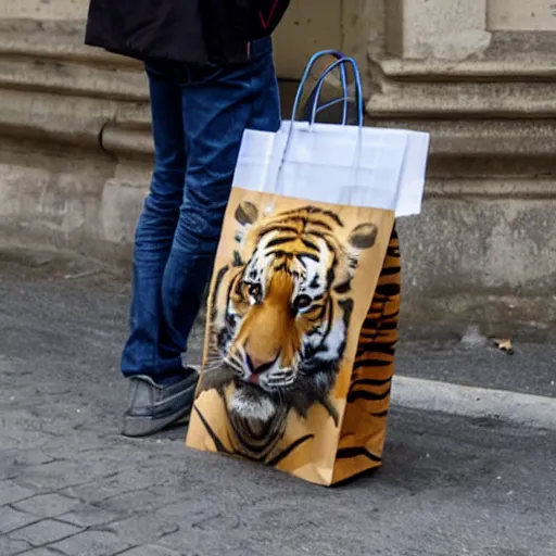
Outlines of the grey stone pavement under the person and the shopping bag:
[[[0,556],[556,554],[555,431],[393,407],[383,468],[336,489],[189,451],[182,428],[122,438],[127,300],[89,262],[0,261]],[[399,370],[509,388],[513,368],[554,395],[556,351],[516,351],[402,344]]]

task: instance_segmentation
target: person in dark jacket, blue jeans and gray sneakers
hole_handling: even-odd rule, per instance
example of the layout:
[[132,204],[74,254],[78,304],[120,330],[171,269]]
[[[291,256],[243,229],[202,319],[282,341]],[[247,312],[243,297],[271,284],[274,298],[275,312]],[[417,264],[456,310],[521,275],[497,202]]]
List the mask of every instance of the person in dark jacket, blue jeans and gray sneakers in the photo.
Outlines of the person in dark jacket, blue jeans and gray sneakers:
[[122,433],[186,418],[187,342],[203,301],[244,129],[277,131],[271,33],[289,0],[90,0],[85,42],[141,60],[154,139],[135,235]]

